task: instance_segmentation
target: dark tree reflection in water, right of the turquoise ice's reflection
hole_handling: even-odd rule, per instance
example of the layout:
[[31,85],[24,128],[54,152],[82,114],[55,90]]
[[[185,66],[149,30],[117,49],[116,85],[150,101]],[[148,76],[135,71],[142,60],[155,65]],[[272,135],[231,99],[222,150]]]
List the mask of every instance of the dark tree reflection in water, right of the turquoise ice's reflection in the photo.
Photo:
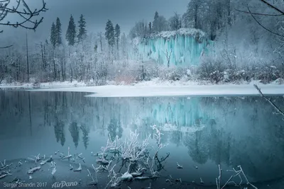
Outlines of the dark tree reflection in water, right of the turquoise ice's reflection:
[[[283,104],[281,98],[273,98]],[[279,162],[284,157],[284,136],[278,130],[283,121],[273,114],[271,105],[260,97],[201,98],[200,104],[214,118],[200,139],[209,147],[209,159],[241,165],[256,180],[283,175],[284,165]]]

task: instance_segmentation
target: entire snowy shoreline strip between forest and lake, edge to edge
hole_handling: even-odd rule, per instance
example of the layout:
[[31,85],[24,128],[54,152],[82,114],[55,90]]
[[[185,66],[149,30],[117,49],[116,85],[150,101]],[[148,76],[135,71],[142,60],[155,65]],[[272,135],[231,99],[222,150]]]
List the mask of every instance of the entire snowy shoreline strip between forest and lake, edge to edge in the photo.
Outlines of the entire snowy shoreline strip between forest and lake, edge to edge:
[[87,92],[89,97],[140,97],[140,96],[256,96],[259,95],[253,84],[257,84],[263,94],[284,95],[284,85],[261,84],[253,81],[250,84],[198,84],[192,82],[157,82],[144,81],[133,85],[87,86],[79,82],[55,82],[21,86],[0,86],[0,88],[24,88],[28,91],[70,91]]

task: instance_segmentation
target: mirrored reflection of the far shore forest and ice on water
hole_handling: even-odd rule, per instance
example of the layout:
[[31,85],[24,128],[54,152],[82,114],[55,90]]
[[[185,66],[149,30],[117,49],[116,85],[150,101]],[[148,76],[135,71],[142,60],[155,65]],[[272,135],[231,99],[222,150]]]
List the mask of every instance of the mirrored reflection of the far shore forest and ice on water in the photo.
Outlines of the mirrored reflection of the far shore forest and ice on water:
[[[180,164],[241,166],[254,180],[283,176],[284,121],[260,97],[85,98],[84,93],[0,91],[0,149],[45,139],[62,147],[99,149],[110,136],[137,130],[145,139],[157,125]],[[273,97],[284,109],[283,97]],[[52,128],[52,130],[50,130]],[[35,138],[33,140],[33,138]],[[183,151],[183,149],[187,149]],[[23,152],[18,152],[23,153]],[[20,154],[21,155],[21,154]],[[15,159],[18,157],[14,157]],[[190,159],[189,159],[190,158]],[[170,158],[171,159],[171,158]],[[175,157],[171,161],[176,163]],[[183,161],[183,162],[180,162]],[[215,172],[214,172],[215,173]]]

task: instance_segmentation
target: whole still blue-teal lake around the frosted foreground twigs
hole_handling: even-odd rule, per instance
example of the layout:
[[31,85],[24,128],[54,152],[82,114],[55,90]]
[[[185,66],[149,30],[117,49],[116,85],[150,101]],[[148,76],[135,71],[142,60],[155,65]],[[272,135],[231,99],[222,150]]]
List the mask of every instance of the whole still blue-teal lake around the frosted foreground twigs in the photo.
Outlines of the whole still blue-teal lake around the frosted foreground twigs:
[[[223,184],[235,175],[226,170],[241,165],[256,187],[283,188],[284,120],[259,96],[92,98],[87,94],[0,91],[0,161],[13,163],[9,167],[13,175],[0,179],[0,188],[15,177],[26,183],[47,183],[40,188],[52,188],[61,181],[87,187],[85,183],[92,181],[87,168],[94,175],[95,154],[108,138],[124,141],[133,132],[139,142],[150,137],[152,156],[157,146],[153,125],[165,144],[158,151],[164,161],[153,164],[159,178],[124,183],[121,188],[147,188],[150,183],[152,188],[217,188],[218,165]],[[283,96],[271,100],[284,110]],[[71,154],[82,153],[84,161],[78,156],[75,161],[60,159],[68,147]],[[38,154],[52,155],[57,171],[52,175],[46,164],[29,179],[26,171],[38,164],[31,161]],[[82,171],[70,171],[70,164],[74,168],[82,164]],[[127,166],[120,167],[119,162],[116,172],[119,169],[124,173]],[[98,173],[97,187],[107,185],[107,176],[107,171]],[[234,182],[239,183],[238,179]],[[246,183],[244,178],[242,183]]]

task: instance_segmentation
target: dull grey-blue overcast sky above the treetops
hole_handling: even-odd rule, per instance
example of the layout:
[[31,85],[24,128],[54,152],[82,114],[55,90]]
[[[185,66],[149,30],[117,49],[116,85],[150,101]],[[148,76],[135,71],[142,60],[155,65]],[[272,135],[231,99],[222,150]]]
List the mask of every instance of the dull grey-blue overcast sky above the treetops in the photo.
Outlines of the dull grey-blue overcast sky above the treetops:
[[[29,31],[28,35],[34,40],[49,38],[50,27],[57,17],[62,23],[62,37],[65,37],[67,24],[72,14],[76,24],[82,13],[87,22],[88,32],[104,32],[107,20],[114,24],[121,25],[121,32],[129,33],[136,21],[144,19],[153,21],[155,11],[165,18],[170,18],[176,11],[182,14],[190,0],[45,0],[49,9],[44,16],[43,23],[40,24],[35,33]],[[40,7],[40,0],[26,0],[33,8]],[[0,42],[4,38],[13,36],[13,40],[20,40],[26,30],[1,27],[4,34],[0,34]],[[16,33],[21,35],[16,35]],[[17,38],[16,38],[17,37]],[[18,39],[19,38],[19,39]]]

